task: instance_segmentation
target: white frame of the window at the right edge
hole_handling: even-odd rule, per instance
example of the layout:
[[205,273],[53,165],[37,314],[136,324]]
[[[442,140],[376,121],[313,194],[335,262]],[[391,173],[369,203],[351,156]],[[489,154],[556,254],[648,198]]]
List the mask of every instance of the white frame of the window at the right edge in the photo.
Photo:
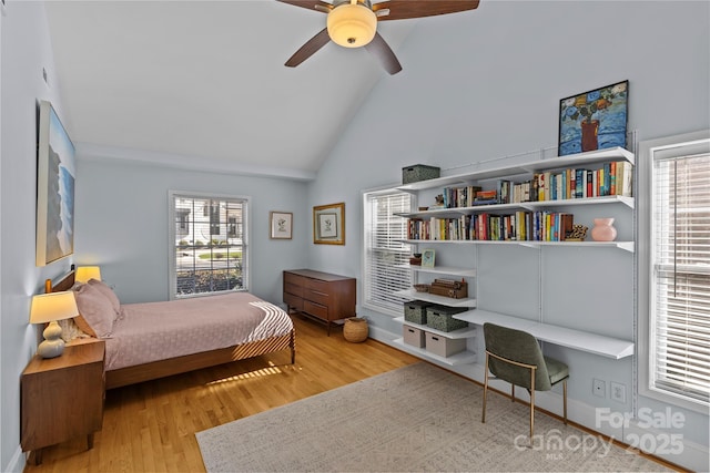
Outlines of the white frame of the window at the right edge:
[[[704,143],[703,143],[704,141]],[[696,412],[707,413],[708,403],[690,397],[665,390],[653,385],[653,337],[655,328],[655,295],[652,255],[653,255],[653,162],[656,153],[677,154],[678,156],[697,154],[697,150],[708,150],[710,146],[710,131],[700,131],[681,135],[648,140],[639,143],[637,157],[637,274],[638,274],[638,374],[639,394],[667,404],[678,405]]]

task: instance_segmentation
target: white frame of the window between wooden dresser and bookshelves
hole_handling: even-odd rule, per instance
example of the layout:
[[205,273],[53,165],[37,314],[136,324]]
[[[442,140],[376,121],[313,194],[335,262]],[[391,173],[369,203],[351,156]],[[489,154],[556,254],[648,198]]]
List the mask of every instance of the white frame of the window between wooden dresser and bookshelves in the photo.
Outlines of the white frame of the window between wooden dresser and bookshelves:
[[[384,313],[387,316],[390,316],[393,318],[395,317],[402,317],[403,315],[403,305],[399,305],[399,307],[395,307],[395,305],[392,305],[392,307],[387,307],[386,302],[383,304],[375,304],[373,302],[373,300],[371,300],[368,298],[368,294],[369,294],[369,288],[371,288],[371,275],[367,270],[368,268],[368,257],[369,257],[369,236],[368,233],[371,230],[369,227],[369,216],[371,216],[371,207],[369,207],[369,200],[372,199],[372,197],[377,197],[377,196],[385,196],[385,195],[394,195],[394,194],[402,194],[402,195],[407,195],[409,197],[409,208],[406,209],[406,212],[412,212],[412,208],[416,207],[417,205],[417,198],[416,195],[412,194],[412,193],[407,193],[400,189],[397,189],[395,185],[390,185],[390,186],[385,186],[385,187],[377,187],[377,188],[372,188],[372,189],[366,189],[362,192],[362,197],[363,197],[363,259],[362,259],[362,271],[361,274],[363,275],[363,285],[362,285],[362,300],[363,300],[363,307],[367,308],[369,310],[379,312],[379,313]],[[404,219],[404,222],[406,223],[406,218],[402,217]],[[394,239],[398,239],[398,238],[394,238]],[[406,239],[406,226],[404,228],[403,232],[403,238],[402,239]],[[403,244],[403,253],[406,253],[408,255],[412,254],[412,245],[409,244]],[[406,281],[405,284],[402,285],[402,287],[404,288],[406,286],[406,288],[410,288],[412,284],[414,284],[415,281],[415,276],[413,275],[413,271],[410,269],[405,269],[406,271],[408,271],[407,274],[409,275],[409,280]],[[408,300],[408,298],[403,297],[402,298],[402,304],[404,304],[406,300]]]

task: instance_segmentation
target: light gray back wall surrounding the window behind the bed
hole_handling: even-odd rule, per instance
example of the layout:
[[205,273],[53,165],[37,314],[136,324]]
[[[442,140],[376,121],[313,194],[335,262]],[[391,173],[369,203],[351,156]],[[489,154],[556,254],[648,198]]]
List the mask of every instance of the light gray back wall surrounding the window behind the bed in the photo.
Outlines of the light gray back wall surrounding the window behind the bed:
[[[201,173],[80,156],[77,165],[78,266],[99,265],[122,302],[166,300],[168,192],[251,197],[250,291],[282,302],[283,269],[306,267],[310,237],[306,184],[296,181]],[[293,239],[268,238],[268,213],[292,212]]]

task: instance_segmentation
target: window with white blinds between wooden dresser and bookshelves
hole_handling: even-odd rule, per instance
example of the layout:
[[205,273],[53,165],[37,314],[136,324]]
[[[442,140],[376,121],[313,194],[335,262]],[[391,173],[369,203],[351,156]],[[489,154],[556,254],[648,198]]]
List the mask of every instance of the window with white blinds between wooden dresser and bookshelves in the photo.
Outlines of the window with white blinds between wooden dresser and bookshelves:
[[412,288],[407,219],[395,213],[412,212],[410,194],[396,189],[363,194],[364,268],[363,305],[393,316],[402,315],[406,298],[393,291]]

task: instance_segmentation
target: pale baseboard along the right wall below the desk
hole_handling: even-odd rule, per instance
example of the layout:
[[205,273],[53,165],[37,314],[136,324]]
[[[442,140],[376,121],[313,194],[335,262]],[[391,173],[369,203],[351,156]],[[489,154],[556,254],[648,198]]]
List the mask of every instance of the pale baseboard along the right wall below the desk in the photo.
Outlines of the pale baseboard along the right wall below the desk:
[[[397,350],[408,352],[409,354],[413,354],[415,357],[419,357],[418,353],[406,350],[406,347],[403,348],[402,345],[394,343],[394,340],[397,339],[399,335],[395,335],[382,328],[371,326],[369,337],[379,342],[394,347]],[[485,371],[483,364],[473,363],[452,367],[438,363],[436,360],[424,360],[437,364],[446,370],[453,371],[457,374],[460,374],[464,378],[468,378],[479,384],[484,383]],[[501,393],[508,395],[510,393],[510,384],[507,382],[500,380],[491,380],[489,381],[489,385],[493,389],[500,391]],[[516,390],[516,399],[519,399],[521,402],[529,402],[528,393],[524,389]],[[536,392],[535,405],[536,408],[539,408],[540,411],[544,411],[547,414],[556,415],[559,418],[562,417],[562,394],[556,392],[555,390]],[[612,423],[610,422],[600,422],[599,415],[599,409],[597,407],[587,404],[586,402],[577,401],[575,399],[567,399],[567,419],[570,422],[587,430],[592,435],[599,434],[630,446],[636,446],[639,444],[639,441],[636,439],[646,439],[647,445],[640,445],[641,448],[648,446],[648,449],[641,449],[648,450],[645,453],[691,471],[710,471],[708,460],[710,451],[708,449],[708,445],[701,445],[699,443],[692,442],[684,439],[682,435],[673,438],[672,442],[674,443],[667,443],[667,438],[669,435],[668,431],[658,429],[655,430],[646,426],[641,428],[637,422],[632,421],[628,422],[627,425],[612,425]]]

